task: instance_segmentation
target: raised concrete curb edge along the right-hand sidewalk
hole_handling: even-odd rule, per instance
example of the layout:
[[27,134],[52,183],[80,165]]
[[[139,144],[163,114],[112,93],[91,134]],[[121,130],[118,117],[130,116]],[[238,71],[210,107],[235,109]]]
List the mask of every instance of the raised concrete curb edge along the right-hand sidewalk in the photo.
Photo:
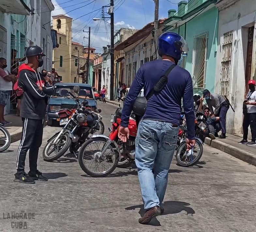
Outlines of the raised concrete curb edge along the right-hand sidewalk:
[[211,140],[210,138],[205,138],[205,144],[217,148],[229,155],[241,159],[249,164],[256,166],[256,155],[248,151],[244,151],[240,148],[234,147],[227,143],[223,143],[219,140]]

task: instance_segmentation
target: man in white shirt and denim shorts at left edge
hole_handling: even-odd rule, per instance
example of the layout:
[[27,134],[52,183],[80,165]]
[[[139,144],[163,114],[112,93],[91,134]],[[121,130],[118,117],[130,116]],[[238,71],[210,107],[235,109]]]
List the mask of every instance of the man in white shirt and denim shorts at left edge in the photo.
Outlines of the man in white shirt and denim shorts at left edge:
[[0,123],[4,125],[11,124],[11,122],[6,121],[4,118],[4,110],[10,98],[12,81],[16,80],[16,77],[10,74],[6,67],[6,59],[0,58]]

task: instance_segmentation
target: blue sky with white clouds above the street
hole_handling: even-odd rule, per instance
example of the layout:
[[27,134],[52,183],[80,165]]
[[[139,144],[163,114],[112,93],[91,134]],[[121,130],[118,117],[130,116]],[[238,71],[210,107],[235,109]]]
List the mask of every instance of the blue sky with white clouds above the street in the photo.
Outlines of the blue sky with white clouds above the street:
[[[97,52],[100,52],[102,46],[110,44],[110,25],[104,21],[93,21],[92,19],[101,18],[101,7],[110,3],[110,0],[52,0],[55,10],[52,15],[65,14],[73,18],[72,34],[73,41],[88,45],[88,34],[83,33],[83,30],[88,31],[91,27],[91,47],[95,47]],[[169,9],[177,9],[177,3],[181,0],[159,0],[159,19],[168,17]],[[171,3],[172,2],[172,3]],[[88,6],[84,6],[89,4]],[[140,29],[149,22],[154,21],[154,6],[153,0],[114,0],[115,12],[114,23],[115,30],[121,27],[129,27]],[[78,9],[76,9],[78,8]],[[96,10],[96,11],[95,11]],[[91,11],[95,11],[90,13]],[[88,14],[90,13],[90,14]],[[76,18],[80,19],[75,20]],[[108,16],[108,15],[107,15]],[[106,31],[108,33],[106,33]]]

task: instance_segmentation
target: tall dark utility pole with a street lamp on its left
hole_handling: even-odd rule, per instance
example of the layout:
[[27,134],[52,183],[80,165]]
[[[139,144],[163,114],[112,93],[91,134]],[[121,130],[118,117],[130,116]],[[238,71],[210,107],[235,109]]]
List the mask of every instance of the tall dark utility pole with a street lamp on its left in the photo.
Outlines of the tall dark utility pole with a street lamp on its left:
[[111,34],[111,49],[110,49],[110,101],[114,101],[114,0],[110,0],[110,34]]

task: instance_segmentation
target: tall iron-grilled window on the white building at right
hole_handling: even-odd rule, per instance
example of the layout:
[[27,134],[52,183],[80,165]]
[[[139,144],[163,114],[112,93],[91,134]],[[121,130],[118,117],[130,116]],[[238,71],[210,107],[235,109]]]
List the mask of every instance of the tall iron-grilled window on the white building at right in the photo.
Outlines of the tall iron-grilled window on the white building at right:
[[220,95],[229,95],[229,80],[231,68],[233,31],[223,35],[222,43],[222,61],[221,61],[221,77],[220,77]]

